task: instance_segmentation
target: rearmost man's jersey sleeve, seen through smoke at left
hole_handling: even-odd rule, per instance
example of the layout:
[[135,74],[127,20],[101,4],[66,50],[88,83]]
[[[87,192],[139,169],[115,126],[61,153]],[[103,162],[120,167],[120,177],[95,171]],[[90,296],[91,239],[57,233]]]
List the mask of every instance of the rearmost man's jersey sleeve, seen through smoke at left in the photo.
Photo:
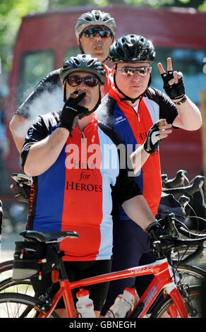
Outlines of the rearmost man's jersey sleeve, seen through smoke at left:
[[37,115],[56,110],[49,109],[48,107],[49,105],[53,104],[53,102],[49,103],[49,96],[52,98],[54,96],[54,98],[57,100],[59,99],[57,91],[58,93],[62,94],[61,99],[63,100],[63,91],[61,88],[59,70],[48,73],[47,76],[45,76],[42,81],[40,81],[40,83],[35,86],[32,93],[30,93],[23,104],[20,105],[15,114],[19,114],[22,117],[25,117],[25,119],[34,121],[37,118]]

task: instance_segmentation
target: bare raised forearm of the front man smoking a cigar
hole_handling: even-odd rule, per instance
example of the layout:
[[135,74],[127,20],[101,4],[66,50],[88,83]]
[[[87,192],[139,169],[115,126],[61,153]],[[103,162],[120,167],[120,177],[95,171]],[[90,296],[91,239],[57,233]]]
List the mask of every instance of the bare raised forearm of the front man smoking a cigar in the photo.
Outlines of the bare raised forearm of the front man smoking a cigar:
[[57,128],[42,141],[34,143],[25,161],[25,174],[29,177],[37,177],[46,172],[59,157],[68,135],[69,131],[67,129]]

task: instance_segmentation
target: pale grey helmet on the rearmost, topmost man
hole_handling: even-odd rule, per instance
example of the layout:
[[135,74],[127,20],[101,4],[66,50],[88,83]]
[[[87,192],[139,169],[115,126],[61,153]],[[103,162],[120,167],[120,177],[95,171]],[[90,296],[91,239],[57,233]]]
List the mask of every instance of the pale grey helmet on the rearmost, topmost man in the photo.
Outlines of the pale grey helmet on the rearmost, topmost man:
[[87,13],[83,13],[80,18],[78,18],[75,24],[75,36],[79,38],[83,30],[91,25],[104,26],[111,30],[113,36],[115,35],[116,22],[114,18],[112,18],[109,13],[104,13],[104,11],[94,9],[92,11],[87,11]]

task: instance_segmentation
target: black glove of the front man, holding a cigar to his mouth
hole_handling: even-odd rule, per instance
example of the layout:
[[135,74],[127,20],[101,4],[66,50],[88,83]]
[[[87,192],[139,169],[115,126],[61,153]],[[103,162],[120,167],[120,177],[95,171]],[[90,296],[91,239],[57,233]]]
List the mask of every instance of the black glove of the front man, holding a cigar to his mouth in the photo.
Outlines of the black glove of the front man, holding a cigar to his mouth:
[[[77,91],[73,95],[78,94]],[[78,105],[83,100],[86,93],[81,93],[78,97],[69,97],[66,100],[63,109],[61,111],[59,127],[66,128],[71,134],[71,131],[75,128],[78,118],[82,119],[87,115],[88,109],[86,107]]]

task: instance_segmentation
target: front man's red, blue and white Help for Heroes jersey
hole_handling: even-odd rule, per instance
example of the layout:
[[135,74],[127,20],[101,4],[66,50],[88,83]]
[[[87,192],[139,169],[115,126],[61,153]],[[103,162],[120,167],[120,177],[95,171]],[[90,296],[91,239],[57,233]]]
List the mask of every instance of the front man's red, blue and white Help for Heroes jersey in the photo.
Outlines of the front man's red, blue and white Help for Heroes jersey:
[[[22,165],[32,144],[56,129],[60,112],[44,114],[31,126],[21,153]],[[140,194],[140,189],[133,177],[128,177],[128,167],[120,167],[121,139],[108,126],[99,124],[94,114],[92,123],[83,131],[75,126],[72,136],[54,165],[34,177],[27,228],[78,232],[78,239],[65,239],[60,244],[65,261],[110,259],[111,189],[120,204]],[[111,160],[108,148],[112,148]]]

